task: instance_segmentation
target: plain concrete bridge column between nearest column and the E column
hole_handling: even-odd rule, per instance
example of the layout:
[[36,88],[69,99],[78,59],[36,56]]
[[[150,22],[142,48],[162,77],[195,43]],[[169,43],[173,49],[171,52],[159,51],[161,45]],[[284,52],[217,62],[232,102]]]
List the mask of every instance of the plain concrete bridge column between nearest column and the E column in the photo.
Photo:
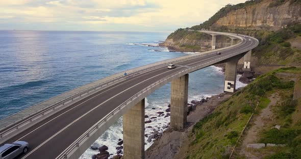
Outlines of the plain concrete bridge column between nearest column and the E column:
[[183,129],[187,121],[188,78],[185,74],[171,82],[170,127]]

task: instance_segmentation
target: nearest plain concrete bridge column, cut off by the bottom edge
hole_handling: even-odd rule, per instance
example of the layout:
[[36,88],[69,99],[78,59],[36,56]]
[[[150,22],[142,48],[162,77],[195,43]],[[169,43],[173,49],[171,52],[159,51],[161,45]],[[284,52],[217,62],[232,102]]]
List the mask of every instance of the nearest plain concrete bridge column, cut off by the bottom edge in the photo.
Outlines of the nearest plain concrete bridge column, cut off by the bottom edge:
[[123,115],[124,159],[144,158],[144,107],[142,99]]

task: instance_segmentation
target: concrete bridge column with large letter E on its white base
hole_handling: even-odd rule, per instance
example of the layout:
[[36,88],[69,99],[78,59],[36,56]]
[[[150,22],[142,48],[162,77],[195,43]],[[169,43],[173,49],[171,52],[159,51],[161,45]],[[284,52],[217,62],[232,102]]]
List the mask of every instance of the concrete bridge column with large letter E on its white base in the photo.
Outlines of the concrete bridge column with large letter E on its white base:
[[224,92],[234,92],[236,86],[236,73],[238,58],[233,57],[225,63]]

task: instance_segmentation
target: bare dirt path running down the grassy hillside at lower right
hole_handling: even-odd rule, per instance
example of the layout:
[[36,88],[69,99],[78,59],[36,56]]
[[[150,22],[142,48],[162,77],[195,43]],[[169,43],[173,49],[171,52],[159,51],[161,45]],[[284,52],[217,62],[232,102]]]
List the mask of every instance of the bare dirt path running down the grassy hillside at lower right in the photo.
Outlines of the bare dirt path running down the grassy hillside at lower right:
[[271,106],[275,105],[278,100],[280,99],[278,97],[278,93],[274,93],[271,94],[271,96],[269,97],[269,99],[271,100],[271,102],[268,104],[268,106],[263,109],[260,113],[260,115],[255,116],[255,118],[253,118],[253,122],[251,124],[253,124],[252,127],[250,127],[247,130],[246,136],[243,138],[243,142],[240,150],[240,154],[241,155],[245,155],[246,158],[251,158],[251,159],[257,159],[257,158],[262,158],[262,155],[256,154],[254,152],[249,152],[246,150],[246,146],[247,144],[254,144],[254,143],[258,143],[258,133],[260,133],[260,131],[267,125],[269,125],[268,123],[273,122],[275,119],[273,117],[273,112],[271,110]]

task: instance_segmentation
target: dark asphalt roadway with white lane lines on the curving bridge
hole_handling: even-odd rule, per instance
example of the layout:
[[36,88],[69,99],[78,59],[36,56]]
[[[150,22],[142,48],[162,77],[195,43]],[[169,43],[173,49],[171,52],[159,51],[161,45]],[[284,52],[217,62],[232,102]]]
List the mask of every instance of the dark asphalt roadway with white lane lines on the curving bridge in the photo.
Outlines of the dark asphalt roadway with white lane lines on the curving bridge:
[[16,140],[29,142],[29,152],[20,156],[20,158],[56,158],[97,121],[137,92],[165,76],[177,73],[188,67],[197,66],[219,57],[231,56],[234,55],[236,51],[248,48],[250,50],[258,45],[255,39],[251,38],[252,41],[248,41],[248,39],[249,38],[243,38],[241,44],[235,48],[221,51],[221,55],[216,55],[214,51],[210,55],[178,63],[175,69],[167,69],[167,66],[162,66],[129,77],[125,81],[116,83],[72,104],[70,107],[24,130],[7,142],[9,143]]

